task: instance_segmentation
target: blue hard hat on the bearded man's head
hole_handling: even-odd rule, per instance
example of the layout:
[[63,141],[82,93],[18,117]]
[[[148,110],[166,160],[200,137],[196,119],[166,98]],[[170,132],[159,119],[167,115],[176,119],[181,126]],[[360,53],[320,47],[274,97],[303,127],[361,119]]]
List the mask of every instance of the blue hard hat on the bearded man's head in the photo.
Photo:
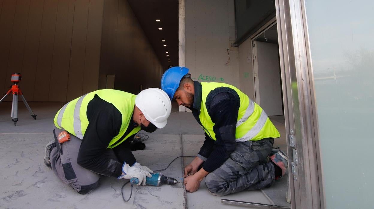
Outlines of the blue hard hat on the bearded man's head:
[[179,87],[179,83],[183,76],[188,73],[188,68],[185,67],[171,67],[165,71],[161,78],[161,88],[164,90],[170,100],[173,100],[175,91]]

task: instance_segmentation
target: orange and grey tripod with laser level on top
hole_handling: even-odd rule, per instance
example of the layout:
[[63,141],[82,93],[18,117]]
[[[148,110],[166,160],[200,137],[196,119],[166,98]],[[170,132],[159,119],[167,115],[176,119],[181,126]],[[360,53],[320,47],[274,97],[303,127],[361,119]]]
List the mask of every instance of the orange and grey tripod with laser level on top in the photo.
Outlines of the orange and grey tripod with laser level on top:
[[10,92],[13,92],[13,101],[12,101],[12,113],[10,113],[10,117],[12,117],[12,121],[14,122],[14,125],[17,125],[18,121],[18,95],[21,96],[22,100],[24,101],[27,110],[30,112],[31,116],[36,120],[36,114],[33,113],[30,106],[28,106],[27,101],[25,97],[23,96],[23,93],[21,92],[21,89],[18,86],[18,82],[21,81],[21,74],[15,73],[12,74],[12,79],[10,79],[11,82],[13,82],[12,88],[9,89],[8,92],[3,96],[3,98],[0,99],[0,102],[3,101],[3,99],[10,94]]

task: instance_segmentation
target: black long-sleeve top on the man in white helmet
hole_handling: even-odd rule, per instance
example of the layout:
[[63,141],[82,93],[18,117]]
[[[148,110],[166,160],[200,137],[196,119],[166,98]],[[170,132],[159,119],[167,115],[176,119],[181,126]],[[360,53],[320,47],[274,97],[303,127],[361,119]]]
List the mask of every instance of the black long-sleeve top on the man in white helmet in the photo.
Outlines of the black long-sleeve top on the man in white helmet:
[[[120,176],[122,174],[122,165],[124,162],[131,166],[136,161],[130,149],[130,142],[133,136],[130,136],[113,148],[117,160],[108,157],[105,152],[107,151],[109,142],[119,133],[122,125],[122,114],[113,104],[95,95],[88,103],[87,118],[89,124],[83,135],[77,163],[101,175]],[[119,141],[128,135],[136,126],[137,124],[131,122]]]

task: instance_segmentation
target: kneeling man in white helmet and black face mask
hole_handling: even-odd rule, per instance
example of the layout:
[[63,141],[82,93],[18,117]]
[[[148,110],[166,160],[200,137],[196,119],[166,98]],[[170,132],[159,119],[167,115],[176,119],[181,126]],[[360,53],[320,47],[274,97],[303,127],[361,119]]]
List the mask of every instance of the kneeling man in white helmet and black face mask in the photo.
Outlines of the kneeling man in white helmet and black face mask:
[[168,95],[157,88],[138,95],[113,89],[87,93],[57,112],[55,140],[46,145],[44,162],[80,194],[97,188],[100,175],[135,177],[144,185],[152,170],[136,162],[130,142],[140,130],[163,128],[170,111]]

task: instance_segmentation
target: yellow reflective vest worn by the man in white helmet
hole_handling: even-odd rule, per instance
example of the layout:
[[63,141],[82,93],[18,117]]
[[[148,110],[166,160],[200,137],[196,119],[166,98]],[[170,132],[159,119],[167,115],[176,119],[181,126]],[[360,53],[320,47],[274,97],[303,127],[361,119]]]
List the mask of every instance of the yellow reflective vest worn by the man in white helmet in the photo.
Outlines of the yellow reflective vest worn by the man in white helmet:
[[[87,106],[95,95],[98,95],[104,101],[114,105],[122,114],[122,123],[117,136],[109,143],[108,148],[113,148],[125,141],[129,136],[141,130],[140,126],[128,133],[124,138],[128,126],[132,125],[132,114],[134,112],[135,97],[131,93],[122,92],[114,89],[101,89],[87,93],[73,101],[68,102],[62,107],[55,116],[54,123],[59,129],[65,129],[77,138],[83,139],[88,126]],[[121,139],[119,141],[119,139]]]

